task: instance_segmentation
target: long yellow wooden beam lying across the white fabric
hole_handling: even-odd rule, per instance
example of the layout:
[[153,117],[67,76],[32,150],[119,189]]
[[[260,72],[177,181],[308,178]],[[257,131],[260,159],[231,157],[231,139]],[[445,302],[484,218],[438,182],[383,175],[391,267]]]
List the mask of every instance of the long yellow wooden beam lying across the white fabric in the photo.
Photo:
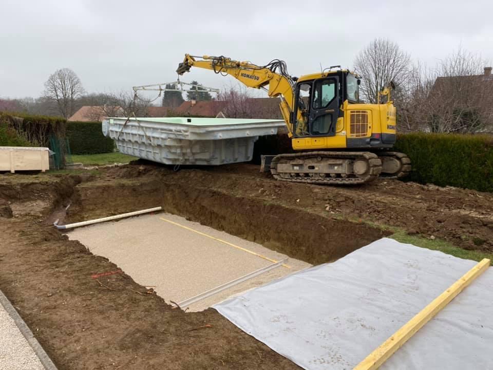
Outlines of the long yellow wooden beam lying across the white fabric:
[[[354,370],[374,370],[380,367],[392,354],[421,329],[433,316],[437,315],[457,294],[472,283],[489,267],[490,260],[484,258],[475,267],[470,269],[461,279],[453,283],[447,290],[435,298],[418,315],[409,320],[397,330],[389,339],[376,348],[367,358],[360,362]],[[432,348],[430,350],[433,350]]]

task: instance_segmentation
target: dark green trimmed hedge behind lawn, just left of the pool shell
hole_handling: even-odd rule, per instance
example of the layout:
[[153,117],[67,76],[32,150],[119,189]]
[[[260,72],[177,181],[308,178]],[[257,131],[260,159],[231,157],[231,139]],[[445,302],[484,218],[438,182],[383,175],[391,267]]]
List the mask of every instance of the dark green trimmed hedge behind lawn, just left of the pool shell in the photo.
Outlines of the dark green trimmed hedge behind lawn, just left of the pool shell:
[[67,138],[72,154],[111,153],[115,144],[103,135],[101,122],[68,122]]

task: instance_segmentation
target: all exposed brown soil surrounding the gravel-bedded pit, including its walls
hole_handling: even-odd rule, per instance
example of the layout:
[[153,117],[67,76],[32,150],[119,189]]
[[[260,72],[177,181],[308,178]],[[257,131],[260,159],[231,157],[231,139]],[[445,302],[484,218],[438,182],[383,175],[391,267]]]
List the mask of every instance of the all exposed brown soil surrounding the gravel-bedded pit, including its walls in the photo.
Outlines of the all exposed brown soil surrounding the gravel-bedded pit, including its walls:
[[213,309],[173,309],[124,273],[101,276],[101,285],[91,275],[118,266],[68,241],[50,225],[55,218],[162,206],[310,263],[387,234],[360,219],[493,251],[491,194],[395,180],[291,184],[249,164],[173,172],[139,161],[99,176],[7,174],[0,199],[7,217],[7,208],[13,213],[0,217],[0,289],[61,370],[298,367]]

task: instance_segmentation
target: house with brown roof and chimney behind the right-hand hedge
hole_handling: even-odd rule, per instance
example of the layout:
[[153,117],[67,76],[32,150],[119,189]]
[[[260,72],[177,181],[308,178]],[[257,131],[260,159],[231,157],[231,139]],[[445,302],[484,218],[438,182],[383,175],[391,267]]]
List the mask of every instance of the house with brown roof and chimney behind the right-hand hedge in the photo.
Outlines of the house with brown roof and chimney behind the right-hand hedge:
[[[449,131],[493,130],[493,75],[438,77],[430,90],[430,107]],[[469,125],[477,129],[468,130]]]

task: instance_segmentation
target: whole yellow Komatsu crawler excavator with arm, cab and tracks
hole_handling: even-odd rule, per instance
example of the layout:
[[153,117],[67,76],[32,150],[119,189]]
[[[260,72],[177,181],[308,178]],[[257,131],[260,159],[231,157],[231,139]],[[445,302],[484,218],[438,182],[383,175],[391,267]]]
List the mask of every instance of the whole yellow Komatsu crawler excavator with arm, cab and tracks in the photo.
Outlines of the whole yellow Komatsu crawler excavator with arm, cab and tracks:
[[396,133],[392,86],[380,91],[377,104],[364,104],[359,102],[361,77],[340,66],[296,78],[277,59],[258,66],[223,56],[185,54],[176,71],[183,75],[192,67],[231,75],[281,98],[288,135],[300,152],[262,156],[261,168],[277,180],[357,184],[378,176],[400,178],[411,170],[407,155],[389,150]]

